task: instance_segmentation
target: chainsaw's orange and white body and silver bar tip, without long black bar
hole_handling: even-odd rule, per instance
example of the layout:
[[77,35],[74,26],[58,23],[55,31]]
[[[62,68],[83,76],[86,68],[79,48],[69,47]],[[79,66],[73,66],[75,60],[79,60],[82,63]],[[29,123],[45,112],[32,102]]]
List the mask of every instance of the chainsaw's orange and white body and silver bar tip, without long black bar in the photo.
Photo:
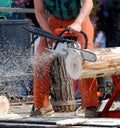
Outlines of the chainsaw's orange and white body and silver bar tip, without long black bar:
[[52,50],[61,55],[68,55],[73,50],[77,50],[80,52],[83,60],[92,62],[96,61],[96,55],[92,52],[85,50],[88,45],[87,35],[82,31],[80,33],[83,34],[85,38],[84,49],[81,49],[81,45],[77,42],[77,37],[74,34],[69,33],[69,29],[55,29],[54,34],[59,37],[63,37],[64,39],[66,39],[66,41],[57,41],[55,44],[53,43]]

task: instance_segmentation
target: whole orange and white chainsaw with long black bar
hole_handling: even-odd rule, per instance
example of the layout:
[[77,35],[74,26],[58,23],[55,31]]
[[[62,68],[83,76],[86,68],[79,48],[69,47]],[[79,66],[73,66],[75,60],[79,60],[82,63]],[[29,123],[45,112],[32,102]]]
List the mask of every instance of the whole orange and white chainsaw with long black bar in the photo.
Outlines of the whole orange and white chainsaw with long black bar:
[[80,33],[85,38],[85,47],[84,49],[81,49],[81,46],[79,45],[79,43],[76,42],[76,39],[75,39],[76,37],[73,34],[69,33],[69,28],[67,29],[58,28],[54,31],[54,34],[33,26],[24,26],[23,29],[35,35],[56,40],[56,43],[53,43],[52,47],[50,47],[46,41],[47,49],[49,49],[52,52],[55,52],[61,55],[67,55],[71,51],[77,50],[81,53],[83,59],[86,61],[95,62],[97,59],[94,53],[86,50],[88,38],[83,31],[81,31]]

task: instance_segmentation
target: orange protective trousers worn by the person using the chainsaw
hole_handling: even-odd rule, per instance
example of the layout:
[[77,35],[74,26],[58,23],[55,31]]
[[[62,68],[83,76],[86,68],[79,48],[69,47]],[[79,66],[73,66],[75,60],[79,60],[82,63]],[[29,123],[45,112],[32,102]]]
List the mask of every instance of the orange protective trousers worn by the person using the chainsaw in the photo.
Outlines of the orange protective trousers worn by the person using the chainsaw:
[[[56,28],[67,28],[74,20],[60,20],[54,16],[50,16],[48,24],[52,31]],[[82,31],[88,36],[88,49],[93,47],[94,28],[87,17],[82,24]],[[78,37],[78,42],[82,48],[84,47],[84,37]],[[43,38],[37,48],[35,64],[34,64],[34,106],[35,108],[47,107],[49,105],[50,94],[50,66],[52,59],[49,58],[49,52],[45,51],[46,43]],[[44,54],[48,54],[47,57]],[[98,105],[97,98],[97,82],[96,79],[80,80],[80,93],[82,95],[82,107],[90,107]]]

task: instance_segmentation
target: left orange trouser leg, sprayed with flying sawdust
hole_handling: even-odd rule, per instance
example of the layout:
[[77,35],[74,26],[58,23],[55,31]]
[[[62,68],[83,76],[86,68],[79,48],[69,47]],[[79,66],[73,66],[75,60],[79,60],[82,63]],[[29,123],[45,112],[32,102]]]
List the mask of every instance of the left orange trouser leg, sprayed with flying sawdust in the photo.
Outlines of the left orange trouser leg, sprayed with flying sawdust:
[[[34,106],[35,108],[47,107],[49,105],[50,66],[49,52],[45,50],[45,40],[41,39],[37,48],[34,63]],[[47,55],[46,55],[47,54]],[[48,57],[46,61],[43,57]]]

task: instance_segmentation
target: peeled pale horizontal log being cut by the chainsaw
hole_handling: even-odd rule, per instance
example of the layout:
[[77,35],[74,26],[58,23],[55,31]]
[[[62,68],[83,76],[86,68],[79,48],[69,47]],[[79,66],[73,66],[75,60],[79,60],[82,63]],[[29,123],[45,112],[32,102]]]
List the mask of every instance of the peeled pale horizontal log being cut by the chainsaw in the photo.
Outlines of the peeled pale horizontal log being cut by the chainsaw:
[[[71,71],[73,67],[70,66],[73,65],[68,64],[68,62],[66,61],[67,72],[73,79],[93,78],[93,77],[111,76],[111,75],[120,74],[120,47],[97,48],[88,51],[95,53],[97,60],[95,62],[84,61],[84,64],[82,64],[83,62],[77,63],[78,65],[82,64],[81,69],[76,69],[78,70],[78,72],[81,72],[80,74],[77,75],[77,77],[76,74],[73,71]],[[76,53],[78,54],[77,50]],[[78,54],[78,56],[80,55]],[[67,57],[69,57],[69,59],[73,58],[70,56],[70,54]],[[67,57],[66,59],[68,59]],[[78,62],[77,59],[75,60],[75,58],[74,61]],[[77,64],[74,68],[79,67]]]

